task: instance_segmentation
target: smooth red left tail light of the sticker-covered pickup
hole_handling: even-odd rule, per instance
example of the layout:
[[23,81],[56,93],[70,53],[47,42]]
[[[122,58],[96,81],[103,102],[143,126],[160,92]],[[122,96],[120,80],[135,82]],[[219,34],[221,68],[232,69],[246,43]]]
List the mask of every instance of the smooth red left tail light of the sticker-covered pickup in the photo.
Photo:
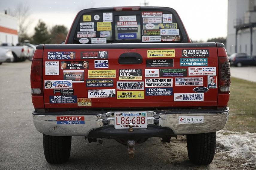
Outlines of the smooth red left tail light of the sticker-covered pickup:
[[32,96],[43,96],[43,59],[33,59],[30,83]]

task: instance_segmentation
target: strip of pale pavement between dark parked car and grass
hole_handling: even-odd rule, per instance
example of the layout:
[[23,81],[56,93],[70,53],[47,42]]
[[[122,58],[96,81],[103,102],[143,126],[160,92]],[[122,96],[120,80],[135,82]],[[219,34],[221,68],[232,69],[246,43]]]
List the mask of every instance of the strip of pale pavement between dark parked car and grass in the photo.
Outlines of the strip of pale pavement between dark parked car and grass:
[[256,66],[231,67],[231,76],[256,82]]

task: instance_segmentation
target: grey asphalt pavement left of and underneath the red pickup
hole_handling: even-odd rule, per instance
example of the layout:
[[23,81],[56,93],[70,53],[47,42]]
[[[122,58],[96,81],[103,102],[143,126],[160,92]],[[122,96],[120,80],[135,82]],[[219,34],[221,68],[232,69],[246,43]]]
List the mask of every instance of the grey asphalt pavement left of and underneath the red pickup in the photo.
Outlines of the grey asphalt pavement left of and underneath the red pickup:
[[[130,159],[127,148],[114,140],[103,144],[88,143],[84,137],[73,137],[68,163],[50,165],[43,154],[43,135],[34,127],[30,93],[31,62],[0,65],[0,170],[26,169],[241,169],[242,160],[216,151],[209,166],[196,166],[187,157],[186,138],[178,137],[170,144],[160,138],[149,139],[136,146]],[[240,161],[240,162],[239,162]]]

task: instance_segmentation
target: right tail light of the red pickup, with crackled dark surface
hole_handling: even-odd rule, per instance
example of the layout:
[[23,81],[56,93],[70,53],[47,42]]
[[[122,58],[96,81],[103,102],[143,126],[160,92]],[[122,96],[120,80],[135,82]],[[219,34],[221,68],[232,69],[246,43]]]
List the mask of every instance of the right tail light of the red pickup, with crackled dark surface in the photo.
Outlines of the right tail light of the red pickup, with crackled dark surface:
[[230,91],[230,64],[228,57],[219,58],[219,94],[229,94]]

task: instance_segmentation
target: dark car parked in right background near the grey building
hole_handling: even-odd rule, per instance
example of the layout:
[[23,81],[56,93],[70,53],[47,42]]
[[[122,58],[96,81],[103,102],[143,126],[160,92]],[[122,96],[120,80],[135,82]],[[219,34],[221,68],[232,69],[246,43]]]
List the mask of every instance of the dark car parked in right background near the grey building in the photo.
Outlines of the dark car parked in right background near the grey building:
[[255,65],[255,60],[246,53],[234,53],[228,57],[230,65],[241,67],[243,65]]

